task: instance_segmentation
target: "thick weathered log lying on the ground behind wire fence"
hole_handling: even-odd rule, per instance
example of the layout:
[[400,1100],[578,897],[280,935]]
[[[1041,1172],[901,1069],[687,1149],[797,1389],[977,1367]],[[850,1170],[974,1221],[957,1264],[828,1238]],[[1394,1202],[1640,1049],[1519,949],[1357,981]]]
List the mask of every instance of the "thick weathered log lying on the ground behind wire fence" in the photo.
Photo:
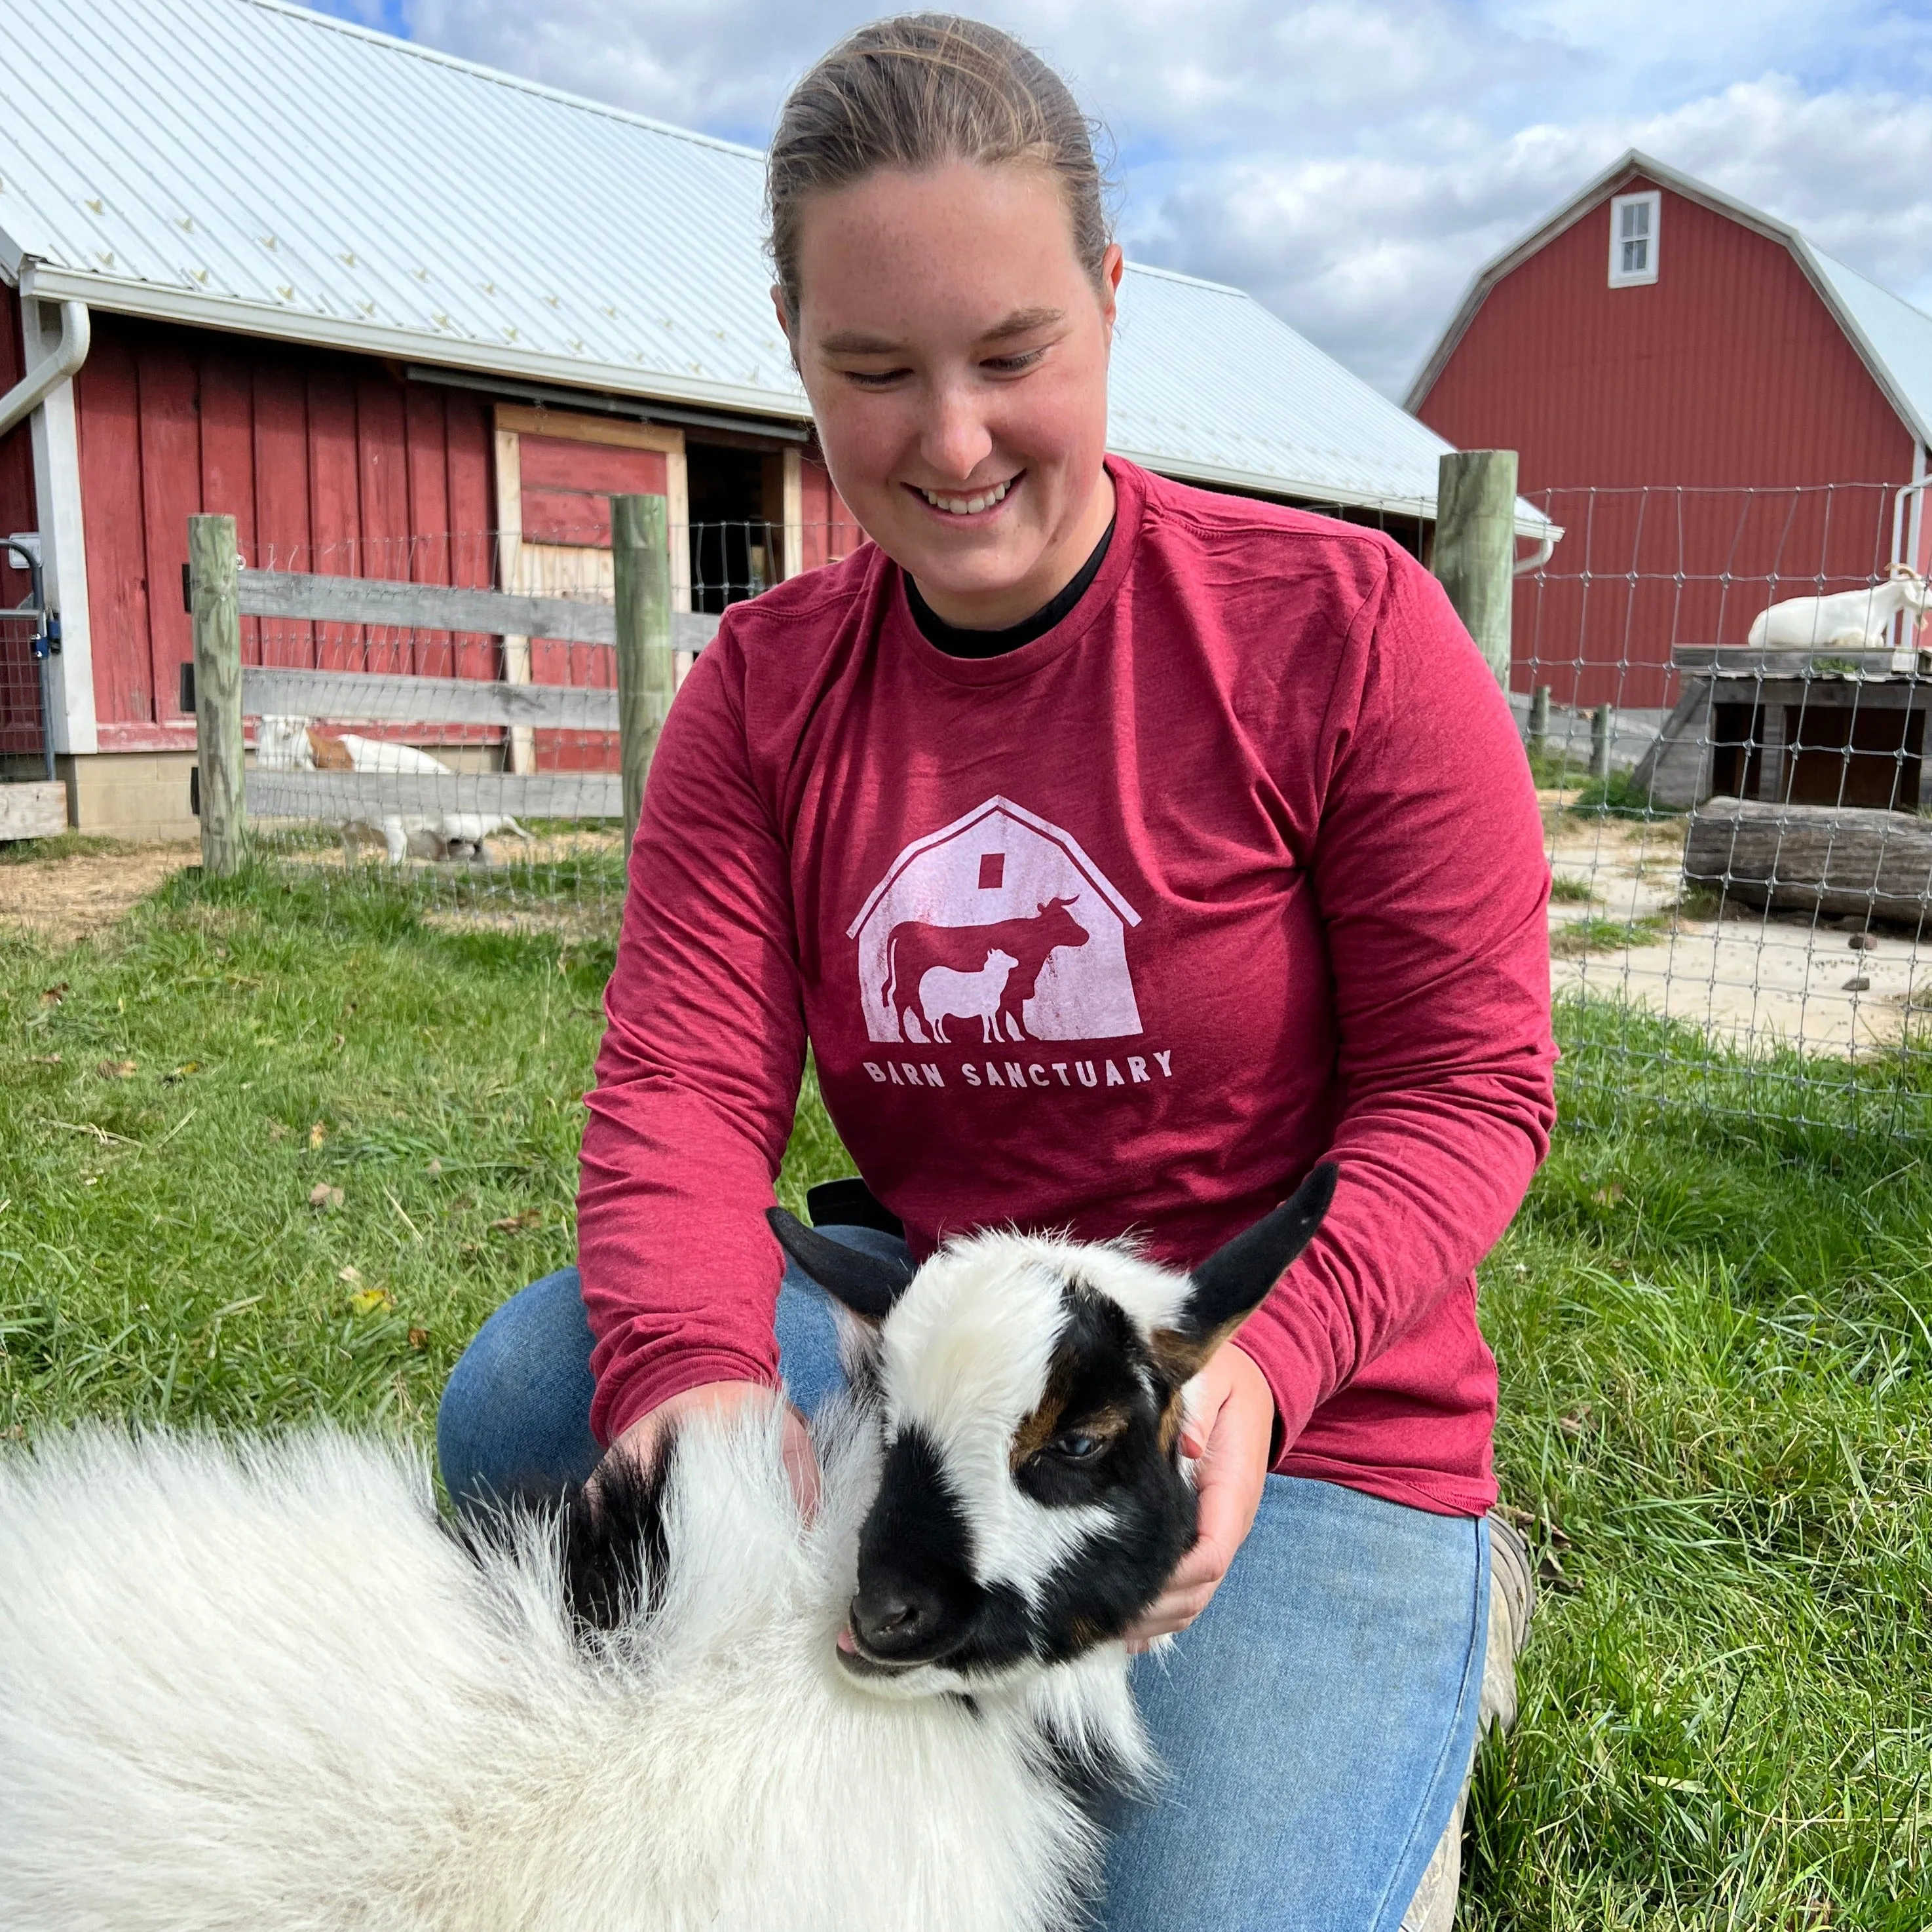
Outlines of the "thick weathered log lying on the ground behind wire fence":
[[1932,908],[1932,823],[1907,811],[1712,798],[1690,817],[1685,883],[1779,912],[1917,925]]

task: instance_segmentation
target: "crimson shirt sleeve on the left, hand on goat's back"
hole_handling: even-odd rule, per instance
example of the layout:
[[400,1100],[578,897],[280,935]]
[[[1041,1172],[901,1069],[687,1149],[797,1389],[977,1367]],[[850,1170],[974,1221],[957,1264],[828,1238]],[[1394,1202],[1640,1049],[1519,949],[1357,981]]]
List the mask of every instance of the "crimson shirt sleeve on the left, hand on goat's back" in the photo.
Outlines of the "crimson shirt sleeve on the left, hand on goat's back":
[[705,1381],[777,1381],[765,1227],[804,1072],[788,860],[753,782],[728,628],[670,709],[578,1182],[591,1432]]

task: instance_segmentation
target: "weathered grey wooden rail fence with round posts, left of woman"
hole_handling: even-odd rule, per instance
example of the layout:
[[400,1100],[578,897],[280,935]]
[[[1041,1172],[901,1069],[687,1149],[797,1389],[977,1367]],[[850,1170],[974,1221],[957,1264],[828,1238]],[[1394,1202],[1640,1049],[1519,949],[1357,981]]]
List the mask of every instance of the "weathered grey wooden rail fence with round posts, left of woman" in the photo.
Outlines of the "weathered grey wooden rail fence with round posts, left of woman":
[[[593,603],[243,570],[234,518],[191,516],[187,607],[195,663],[191,692],[184,684],[182,707],[195,715],[203,867],[226,875],[242,864],[251,817],[338,825],[383,813],[435,817],[452,810],[551,819],[620,817],[628,844],[657,734],[670,709],[676,653],[703,649],[719,620],[670,609],[670,533],[663,497],[612,497],[611,537],[616,595],[612,603]],[[243,616],[607,643],[616,655],[616,690],[243,667]],[[516,661],[514,651],[504,655],[508,663]],[[454,775],[247,769],[247,717],[500,726],[510,734],[512,763],[526,769]],[[533,763],[527,755],[529,734],[537,730],[612,732],[618,738],[618,771],[527,769]]]

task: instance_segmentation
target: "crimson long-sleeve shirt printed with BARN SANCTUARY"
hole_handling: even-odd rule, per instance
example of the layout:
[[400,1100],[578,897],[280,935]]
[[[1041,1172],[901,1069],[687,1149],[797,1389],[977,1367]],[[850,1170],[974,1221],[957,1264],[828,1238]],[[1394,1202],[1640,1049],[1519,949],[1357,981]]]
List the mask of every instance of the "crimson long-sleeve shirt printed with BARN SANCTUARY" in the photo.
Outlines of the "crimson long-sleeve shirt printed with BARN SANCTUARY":
[[914,1254],[1190,1264],[1321,1157],[1240,1329],[1277,1470],[1495,1499],[1474,1265],[1548,1148],[1548,871],[1509,707],[1387,537],[1111,464],[1045,636],[937,651],[875,547],[726,614],[632,852],[580,1190],[591,1424],[771,1379],[806,1043]]

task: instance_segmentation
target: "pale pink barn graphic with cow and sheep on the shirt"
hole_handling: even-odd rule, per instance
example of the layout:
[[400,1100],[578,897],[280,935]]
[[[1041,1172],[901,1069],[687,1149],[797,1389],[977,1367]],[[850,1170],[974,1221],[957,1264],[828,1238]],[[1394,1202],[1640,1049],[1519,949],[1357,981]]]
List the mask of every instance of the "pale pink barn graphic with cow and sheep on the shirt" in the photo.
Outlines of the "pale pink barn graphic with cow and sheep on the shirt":
[[914,838],[846,927],[866,1037],[916,1045],[1140,1032],[1140,914],[1078,840],[1009,798]]

